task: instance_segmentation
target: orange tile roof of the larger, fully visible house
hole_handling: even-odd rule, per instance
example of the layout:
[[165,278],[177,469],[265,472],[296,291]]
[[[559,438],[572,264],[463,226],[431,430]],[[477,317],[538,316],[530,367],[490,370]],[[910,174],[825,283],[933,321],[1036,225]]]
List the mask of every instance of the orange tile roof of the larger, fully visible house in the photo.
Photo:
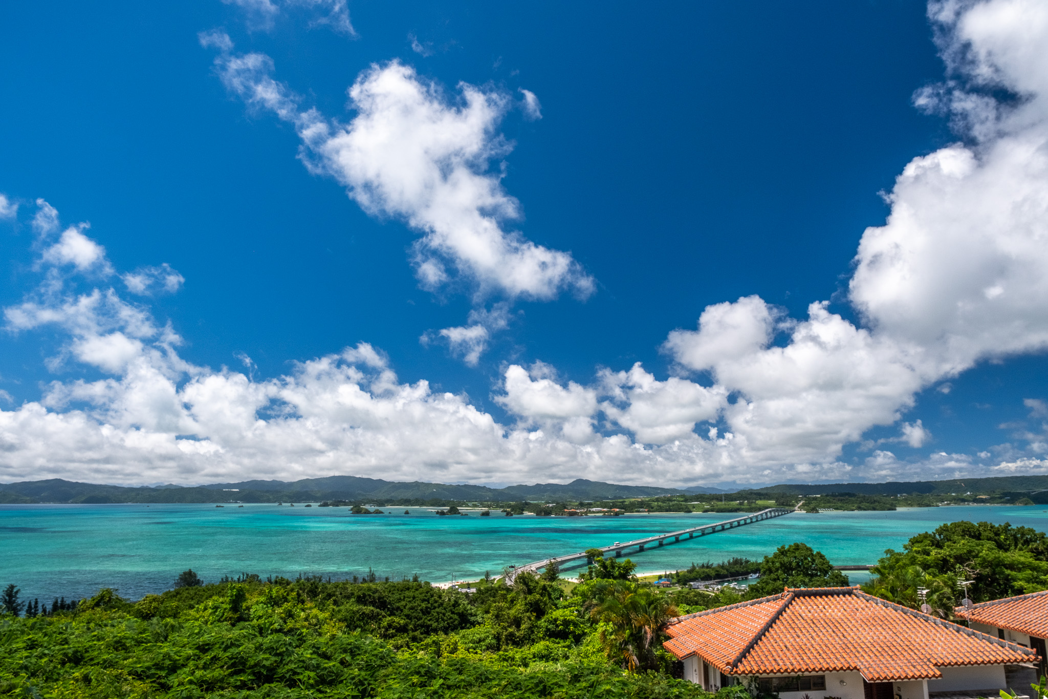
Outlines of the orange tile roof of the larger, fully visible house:
[[938,668],[1030,662],[1036,653],[855,588],[781,594],[672,619],[663,646],[725,675],[857,670],[871,682],[941,677]]

